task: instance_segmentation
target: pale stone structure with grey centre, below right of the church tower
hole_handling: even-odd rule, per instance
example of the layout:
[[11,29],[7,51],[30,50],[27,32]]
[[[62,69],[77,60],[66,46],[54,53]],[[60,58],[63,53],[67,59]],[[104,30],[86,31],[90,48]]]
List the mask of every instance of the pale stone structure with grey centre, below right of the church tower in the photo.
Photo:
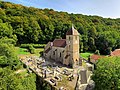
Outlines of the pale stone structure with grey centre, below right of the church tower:
[[78,73],[78,79],[75,90],[93,90],[95,83],[91,80],[94,66],[86,63],[86,68],[82,67]]

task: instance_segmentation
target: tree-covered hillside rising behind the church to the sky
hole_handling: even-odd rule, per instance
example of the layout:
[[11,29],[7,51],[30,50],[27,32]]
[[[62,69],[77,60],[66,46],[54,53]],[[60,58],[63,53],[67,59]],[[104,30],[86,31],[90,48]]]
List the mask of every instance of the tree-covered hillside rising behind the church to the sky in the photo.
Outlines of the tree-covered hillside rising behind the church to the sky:
[[72,23],[80,33],[81,51],[99,50],[101,54],[109,54],[120,48],[120,19],[0,2],[0,38],[12,38],[17,45],[65,38]]

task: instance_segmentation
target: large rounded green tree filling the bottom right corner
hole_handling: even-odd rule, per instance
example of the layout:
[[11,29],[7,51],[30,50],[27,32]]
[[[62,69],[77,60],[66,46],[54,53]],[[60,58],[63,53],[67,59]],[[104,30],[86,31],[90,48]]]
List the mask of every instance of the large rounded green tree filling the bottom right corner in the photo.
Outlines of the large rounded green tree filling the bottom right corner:
[[96,66],[95,90],[120,90],[120,57],[102,58]]

